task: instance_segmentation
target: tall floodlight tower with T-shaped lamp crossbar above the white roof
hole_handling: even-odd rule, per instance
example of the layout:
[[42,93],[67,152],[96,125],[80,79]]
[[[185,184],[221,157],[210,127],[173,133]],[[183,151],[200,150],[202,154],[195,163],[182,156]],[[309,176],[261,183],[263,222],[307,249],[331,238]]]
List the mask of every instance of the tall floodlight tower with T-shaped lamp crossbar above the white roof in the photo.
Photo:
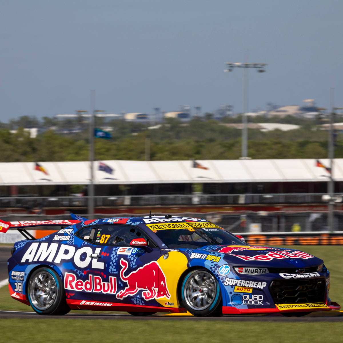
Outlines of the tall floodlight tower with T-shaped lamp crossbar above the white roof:
[[248,113],[248,69],[256,68],[259,73],[264,73],[266,63],[241,63],[226,62],[227,69],[225,72],[233,71],[234,68],[244,68],[243,74],[243,114],[242,114],[242,156],[240,159],[249,159],[248,157],[248,130],[247,130],[247,113]]

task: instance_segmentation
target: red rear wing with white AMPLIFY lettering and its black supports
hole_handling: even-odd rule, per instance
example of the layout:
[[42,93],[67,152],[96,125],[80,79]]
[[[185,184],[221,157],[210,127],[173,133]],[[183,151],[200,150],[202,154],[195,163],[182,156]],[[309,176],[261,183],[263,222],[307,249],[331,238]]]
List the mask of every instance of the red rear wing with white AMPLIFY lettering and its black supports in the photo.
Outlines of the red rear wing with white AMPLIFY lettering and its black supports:
[[25,230],[25,227],[32,226],[70,226],[80,223],[79,220],[29,220],[23,222],[5,222],[0,219],[0,232],[7,232],[11,227],[15,227],[26,239],[36,239],[29,232]]

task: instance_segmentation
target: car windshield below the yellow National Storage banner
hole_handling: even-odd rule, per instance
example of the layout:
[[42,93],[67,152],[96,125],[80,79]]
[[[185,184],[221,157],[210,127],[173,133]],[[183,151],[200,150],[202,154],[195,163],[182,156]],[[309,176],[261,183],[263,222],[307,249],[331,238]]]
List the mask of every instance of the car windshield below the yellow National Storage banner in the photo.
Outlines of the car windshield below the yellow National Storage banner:
[[222,228],[157,230],[155,234],[168,248],[201,248],[206,245],[247,245]]

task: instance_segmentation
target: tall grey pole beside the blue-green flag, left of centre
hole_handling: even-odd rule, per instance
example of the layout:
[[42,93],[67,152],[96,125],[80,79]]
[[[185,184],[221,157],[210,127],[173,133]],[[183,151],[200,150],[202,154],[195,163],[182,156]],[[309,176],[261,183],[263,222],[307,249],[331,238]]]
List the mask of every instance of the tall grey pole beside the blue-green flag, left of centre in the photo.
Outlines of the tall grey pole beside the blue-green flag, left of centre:
[[94,219],[94,112],[95,91],[91,91],[91,110],[89,116],[89,162],[90,184],[88,186],[88,218]]

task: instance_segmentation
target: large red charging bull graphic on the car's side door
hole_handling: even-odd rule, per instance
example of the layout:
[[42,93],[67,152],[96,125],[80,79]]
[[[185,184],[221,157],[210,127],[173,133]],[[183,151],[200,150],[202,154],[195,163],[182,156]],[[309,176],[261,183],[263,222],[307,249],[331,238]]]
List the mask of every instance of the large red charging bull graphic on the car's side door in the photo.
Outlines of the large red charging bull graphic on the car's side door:
[[125,276],[129,263],[123,258],[120,260],[122,266],[120,278],[127,282],[127,287],[117,293],[118,299],[123,299],[129,295],[135,295],[140,289],[143,290],[142,296],[145,300],[167,298],[170,294],[167,287],[166,277],[156,261],[143,265],[143,267]]

